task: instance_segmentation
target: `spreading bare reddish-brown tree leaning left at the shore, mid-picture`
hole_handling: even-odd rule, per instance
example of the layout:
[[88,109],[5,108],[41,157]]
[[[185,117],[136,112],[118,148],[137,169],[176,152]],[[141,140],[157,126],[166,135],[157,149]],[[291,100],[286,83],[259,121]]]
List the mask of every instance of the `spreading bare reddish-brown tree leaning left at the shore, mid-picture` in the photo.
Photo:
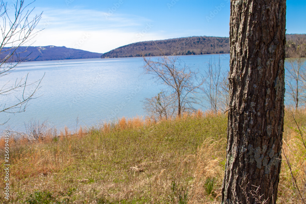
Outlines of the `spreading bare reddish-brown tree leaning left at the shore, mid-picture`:
[[182,112],[193,109],[193,104],[199,103],[199,99],[195,97],[203,84],[199,72],[192,71],[176,56],[143,58],[145,72],[153,75],[158,83],[169,87],[171,98],[175,100],[174,109],[178,117]]

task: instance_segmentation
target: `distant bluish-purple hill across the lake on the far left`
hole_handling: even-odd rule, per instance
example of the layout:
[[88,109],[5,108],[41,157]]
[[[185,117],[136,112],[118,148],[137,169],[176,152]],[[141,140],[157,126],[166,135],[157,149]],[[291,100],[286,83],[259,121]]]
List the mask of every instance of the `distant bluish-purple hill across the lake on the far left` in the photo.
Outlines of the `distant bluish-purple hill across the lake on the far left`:
[[[0,52],[0,59],[6,57],[13,49],[4,47]],[[9,51],[7,51],[9,50]],[[88,59],[100,58],[100,53],[72,49],[57,46],[19,47],[9,62],[16,61],[45,61],[45,60],[66,60],[66,59]]]

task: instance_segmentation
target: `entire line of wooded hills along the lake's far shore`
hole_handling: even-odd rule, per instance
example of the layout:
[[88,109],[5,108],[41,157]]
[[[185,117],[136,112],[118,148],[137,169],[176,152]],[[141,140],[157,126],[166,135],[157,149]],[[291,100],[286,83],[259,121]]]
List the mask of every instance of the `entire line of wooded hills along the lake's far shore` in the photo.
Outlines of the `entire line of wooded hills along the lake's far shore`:
[[[296,57],[298,49],[300,57],[306,57],[306,34],[286,35],[286,57]],[[303,46],[299,46],[299,45]],[[4,59],[10,52],[5,47],[0,52],[0,59]],[[162,52],[161,52],[161,50]],[[9,50],[9,51],[7,51]],[[195,54],[225,54],[230,52],[229,38],[226,37],[187,37],[167,40],[146,41],[132,43],[119,47],[107,53],[93,53],[84,50],[57,46],[24,47],[17,49],[9,61],[46,61],[88,58],[141,57],[161,55],[195,55]],[[102,55],[102,56],[101,56]]]

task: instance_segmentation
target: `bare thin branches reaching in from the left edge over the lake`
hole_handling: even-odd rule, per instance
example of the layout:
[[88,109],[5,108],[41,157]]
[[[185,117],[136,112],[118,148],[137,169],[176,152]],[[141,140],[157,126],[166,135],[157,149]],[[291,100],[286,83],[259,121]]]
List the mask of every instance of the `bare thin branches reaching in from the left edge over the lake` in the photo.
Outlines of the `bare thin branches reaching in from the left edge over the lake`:
[[[33,83],[29,83],[27,74],[21,79],[5,82],[5,76],[26,59],[26,57],[20,58],[21,52],[18,52],[18,48],[29,42],[37,34],[35,27],[42,13],[31,18],[34,8],[28,10],[30,5],[31,3],[24,5],[24,0],[17,0],[16,4],[14,4],[14,13],[11,13],[9,8],[12,8],[12,5],[8,7],[7,2],[0,2],[0,17],[2,17],[2,22],[0,23],[2,34],[0,39],[0,55],[4,56],[0,59],[0,113],[25,111],[25,107],[34,98],[34,94],[39,89],[39,84],[42,80],[41,78]],[[3,102],[10,96],[15,98],[13,102]]]

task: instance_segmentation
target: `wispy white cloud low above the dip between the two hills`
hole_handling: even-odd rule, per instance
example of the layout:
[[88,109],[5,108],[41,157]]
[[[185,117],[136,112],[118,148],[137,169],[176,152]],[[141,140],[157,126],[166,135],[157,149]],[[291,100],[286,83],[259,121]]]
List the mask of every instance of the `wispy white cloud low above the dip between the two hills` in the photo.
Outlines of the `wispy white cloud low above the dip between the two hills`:
[[[32,46],[66,46],[104,53],[133,42],[166,39],[144,17],[88,9],[43,9]],[[107,15],[106,15],[107,14]],[[84,37],[86,36],[86,37]]]

